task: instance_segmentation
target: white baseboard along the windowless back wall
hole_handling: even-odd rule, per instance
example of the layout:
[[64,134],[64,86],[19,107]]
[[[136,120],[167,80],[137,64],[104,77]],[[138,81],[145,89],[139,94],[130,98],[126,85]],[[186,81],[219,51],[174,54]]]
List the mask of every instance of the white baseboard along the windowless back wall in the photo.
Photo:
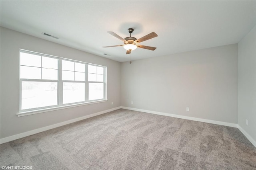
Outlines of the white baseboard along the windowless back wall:
[[228,122],[223,122],[223,121],[201,119],[201,118],[182,116],[182,115],[176,115],[176,114],[171,114],[171,113],[163,113],[163,112],[158,112],[158,111],[136,109],[136,108],[132,108],[132,107],[123,107],[123,106],[121,106],[121,109],[128,109],[128,110],[134,110],[134,111],[142,111],[142,112],[152,113],[152,114],[156,114],[156,115],[164,115],[164,116],[176,117],[176,118],[180,118],[180,119],[188,119],[188,120],[194,120],[194,121],[201,121],[201,122],[212,123],[212,124],[216,124],[216,125],[224,125],[224,126],[229,126],[229,127],[238,127],[238,124],[236,124],[236,123],[228,123]]

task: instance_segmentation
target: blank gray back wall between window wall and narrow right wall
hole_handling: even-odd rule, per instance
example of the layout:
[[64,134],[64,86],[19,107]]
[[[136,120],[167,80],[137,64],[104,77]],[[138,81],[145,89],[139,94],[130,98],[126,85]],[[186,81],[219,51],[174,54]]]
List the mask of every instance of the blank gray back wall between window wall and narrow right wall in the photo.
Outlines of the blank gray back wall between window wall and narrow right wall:
[[225,45],[121,63],[122,106],[238,123],[237,48]]

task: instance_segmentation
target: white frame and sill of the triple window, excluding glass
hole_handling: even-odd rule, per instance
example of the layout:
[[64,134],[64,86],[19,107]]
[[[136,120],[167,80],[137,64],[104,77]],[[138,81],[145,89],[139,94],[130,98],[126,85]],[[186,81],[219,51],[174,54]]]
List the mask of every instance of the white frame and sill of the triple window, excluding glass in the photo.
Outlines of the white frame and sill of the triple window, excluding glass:
[[[42,113],[42,112],[46,112],[46,111],[52,111],[52,110],[56,110],[56,109],[64,109],[64,108],[68,108],[68,107],[76,107],[76,106],[81,106],[81,105],[94,104],[94,103],[108,101],[107,100],[107,95],[106,95],[106,87],[107,87],[107,84],[106,84],[106,70],[107,70],[107,67],[106,66],[86,63],[86,62],[82,62],[82,61],[76,61],[76,60],[72,60],[72,59],[66,59],[66,58],[62,58],[62,57],[56,57],[56,56],[52,56],[52,55],[46,55],[46,54],[42,54],[42,53],[36,53],[36,52],[32,52],[32,51],[27,51],[27,50],[24,50],[24,49],[20,49],[20,53],[21,52],[58,59],[58,80],[20,78],[20,71],[19,71],[19,83],[20,83],[19,84],[19,86],[20,86],[19,89],[20,90],[19,90],[19,113],[17,113],[18,116],[30,115],[30,114]],[[41,60],[42,60],[42,57],[41,57]],[[84,79],[84,81],[62,80],[62,60],[85,64],[85,79]],[[104,97],[102,99],[90,100],[90,101],[88,100],[88,94],[89,94],[88,87],[89,87],[89,83],[91,83],[91,82],[88,82],[88,65],[100,66],[100,67],[104,68],[103,82],[93,82],[93,83],[103,83],[104,84],[104,92],[103,92]],[[19,63],[19,70],[20,70],[20,66],[21,65]],[[42,69],[42,62],[41,62],[41,69]],[[42,71],[41,71],[41,77],[42,77]],[[24,82],[24,81],[30,81],[30,82],[57,82],[57,84],[58,84],[57,85],[57,88],[58,88],[58,90],[57,90],[57,105],[46,106],[46,107],[36,107],[36,108],[31,108],[31,109],[21,109],[22,82]],[[85,94],[84,94],[85,95],[85,101],[63,104],[63,83],[64,82],[83,82],[83,83],[85,83],[85,90],[84,90],[84,92],[85,92]]]

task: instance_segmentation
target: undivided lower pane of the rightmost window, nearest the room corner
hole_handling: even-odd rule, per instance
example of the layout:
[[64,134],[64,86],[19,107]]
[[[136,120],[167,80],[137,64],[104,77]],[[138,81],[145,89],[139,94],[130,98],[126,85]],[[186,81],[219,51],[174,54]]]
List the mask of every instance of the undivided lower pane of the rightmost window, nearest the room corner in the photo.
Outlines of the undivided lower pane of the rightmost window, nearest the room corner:
[[104,98],[103,83],[89,83],[89,100],[97,100]]

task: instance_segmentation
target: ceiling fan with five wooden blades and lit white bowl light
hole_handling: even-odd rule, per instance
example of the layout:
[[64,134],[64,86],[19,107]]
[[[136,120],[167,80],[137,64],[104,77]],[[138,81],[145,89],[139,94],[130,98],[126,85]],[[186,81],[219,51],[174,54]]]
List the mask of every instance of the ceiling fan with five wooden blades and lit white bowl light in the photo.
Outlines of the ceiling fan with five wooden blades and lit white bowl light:
[[[141,37],[139,39],[136,39],[135,37],[132,37],[132,32],[134,31],[134,29],[129,28],[128,32],[130,33],[130,37],[126,37],[126,38],[122,38],[119,35],[117,35],[116,33],[112,32],[112,31],[108,31],[109,34],[113,35],[114,37],[124,41],[124,45],[112,45],[112,46],[106,46],[106,47],[119,47],[119,46],[123,46],[124,49],[126,49],[126,54],[130,54],[132,50],[136,49],[137,47],[142,48],[142,49],[147,49],[147,50],[152,50],[154,51],[156,49],[156,47],[149,47],[146,45],[140,45],[138,43],[141,43],[143,41],[146,41],[148,39],[152,39],[154,37],[157,37],[158,35],[154,32],[149,33],[148,35],[145,35],[144,37]],[[106,48],[104,47],[104,48]]]

